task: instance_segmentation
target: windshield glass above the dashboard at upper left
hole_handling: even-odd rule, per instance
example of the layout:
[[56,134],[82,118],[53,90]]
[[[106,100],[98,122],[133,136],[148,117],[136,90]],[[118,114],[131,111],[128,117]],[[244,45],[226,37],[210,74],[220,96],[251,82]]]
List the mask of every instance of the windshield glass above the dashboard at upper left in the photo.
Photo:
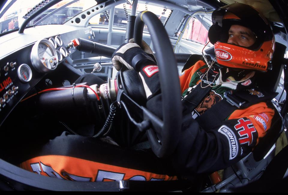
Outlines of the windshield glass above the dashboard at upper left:
[[[8,0],[0,14],[12,0]],[[18,29],[24,22],[23,16],[31,11],[35,5],[40,4],[40,0],[17,0],[0,18],[0,33]],[[49,2],[46,0],[45,2]],[[63,0],[32,20],[27,26],[39,26],[46,24],[63,24],[70,18],[97,5],[95,0]]]

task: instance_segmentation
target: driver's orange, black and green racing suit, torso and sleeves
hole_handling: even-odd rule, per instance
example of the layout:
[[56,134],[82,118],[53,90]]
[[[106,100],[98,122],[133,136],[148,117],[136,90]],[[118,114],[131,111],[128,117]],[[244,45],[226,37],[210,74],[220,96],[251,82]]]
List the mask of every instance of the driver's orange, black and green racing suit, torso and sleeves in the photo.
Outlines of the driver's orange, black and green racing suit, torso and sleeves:
[[[185,98],[197,84],[202,84],[200,76],[205,74],[207,69],[205,62],[200,60],[182,72],[182,97]],[[250,94],[262,95],[254,90],[254,72],[244,77],[241,82],[235,82],[233,77],[228,77],[223,84],[219,84],[223,77],[222,71],[220,70],[219,77],[215,79],[216,86],[211,88],[192,113],[183,105],[181,137],[172,155],[174,168],[179,174],[211,173],[237,163],[253,150],[271,126],[274,109],[270,108],[267,102],[236,109],[225,121],[208,129],[198,124],[197,117],[223,99],[223,93],[228,90],[248,90]],[[148,98],[147,108],[162,118],[161,94],[157,90],[151,91],[155,93]],[[209,118],[205,120],[209,123]]]

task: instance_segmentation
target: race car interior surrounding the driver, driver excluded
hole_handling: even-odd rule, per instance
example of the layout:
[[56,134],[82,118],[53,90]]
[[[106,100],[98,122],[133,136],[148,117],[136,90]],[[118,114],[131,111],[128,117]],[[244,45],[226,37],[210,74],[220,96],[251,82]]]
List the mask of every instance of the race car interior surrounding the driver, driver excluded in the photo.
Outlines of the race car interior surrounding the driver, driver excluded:
[[[129,162],[135,169],[174,176],[165,160],[173,153],[181,130],[179,75],[202,58],[202,51],[208,58],[215,58],[214,46],[208,39],[211,13],[234,2],[261,11],[271,23],[276,41],[273,69],[256,73],[260,87],[278,93],[271,101],[276,117],[253,152],[222,170],[221,176],[219,172],[192,178],[177,175],[177,180],[170,181],[139,177],[83,182],[72,177],[59,179],[55,173],[47,177],[19,167],[49,140],[67,131],[95,135],[96,140],[93,148],[82,145],[70,150],[99,162],[115,161],[119,166]],[[288,4],[282,0],[1,2],[0,189],[286,191],[281,184],[288,175],[287,144],[282,143],[284,149],[278,154],[275,148],[279,137],[287,140],[287,11]],[[164,94],[162,105],[167,105],[162,106],[163,119],[146,108],[145,92],[136,71],[117,71],[113,67],[112,54],[131,38],[140,46],[144,40],[155,53]],[[101,86],[110,90],[108,95],[101,86],[82,82],[79,78],[85,74],[101,78]],[[58,147],[61,150],[62,146]],[[153,155],[139,153],[147,150]]]

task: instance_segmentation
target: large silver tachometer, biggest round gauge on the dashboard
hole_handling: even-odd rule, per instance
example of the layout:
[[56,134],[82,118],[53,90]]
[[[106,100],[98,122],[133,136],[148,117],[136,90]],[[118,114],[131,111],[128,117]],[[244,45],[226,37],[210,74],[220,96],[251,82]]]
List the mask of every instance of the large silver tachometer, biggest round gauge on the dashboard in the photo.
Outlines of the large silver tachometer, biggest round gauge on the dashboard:
[[42,39],[32,47],[31,62],[38,72],[50,72],[58,65],[57,52],[50,41]]

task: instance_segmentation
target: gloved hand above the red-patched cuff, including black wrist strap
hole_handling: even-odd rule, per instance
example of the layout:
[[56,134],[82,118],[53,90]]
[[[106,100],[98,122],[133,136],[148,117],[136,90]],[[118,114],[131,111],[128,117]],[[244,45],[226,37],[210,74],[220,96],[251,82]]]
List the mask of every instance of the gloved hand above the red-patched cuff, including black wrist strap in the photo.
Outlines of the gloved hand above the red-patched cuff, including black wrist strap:
[[112,63],[118,71],[124,65],[130,70],[135,69],[137,72],[140,71],[142,66],[156,65],[153,56],[143,51],[136,43],[124,43],[120,45],[112,55]]

